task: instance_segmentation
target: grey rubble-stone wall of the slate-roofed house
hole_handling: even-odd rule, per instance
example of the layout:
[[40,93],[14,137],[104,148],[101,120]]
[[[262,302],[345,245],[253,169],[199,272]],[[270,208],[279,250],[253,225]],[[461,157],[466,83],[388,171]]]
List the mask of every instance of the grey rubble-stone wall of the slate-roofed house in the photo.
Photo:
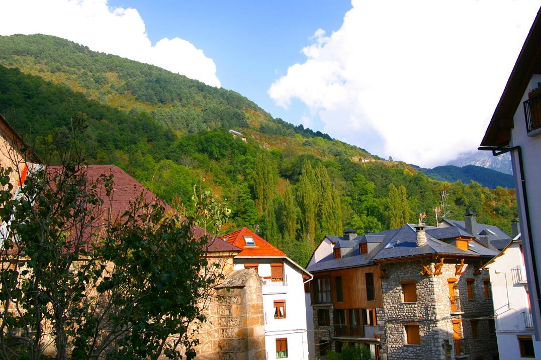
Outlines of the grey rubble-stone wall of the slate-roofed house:
[[[378,319],[385,329],[382,334],[382,354],[393,359],[441,359],[446,358],[443,348],[447,340],[453,345],[453,320],[461,321],[460,336],[469,339],[469,350],[463,358],[497,355],[496,334],[489,332],[489,318],[493,314],[492,302],[484,298],[483,278],[488,275],[481,271],[473,275],[476,263],[463,266],[456,274],[459,261],[446,261],[440,275],[421,275],[420,261],[385,264],[387,279],[382,279],[384,310]],[[425,263],[426,265],[426,263]],[[462,312],[451,313],[448,279],[457,279],[457,293]],[[466,278],[474,278],[474,298],[467,299]],[[414,280],[417,284],[417,302],[404,303],[400,281]],[[478,336],[471,339],[471,319],[478,319]],[[421,344],[406,344],[404,325],[418,324]],[[465,348],[465,346],[463,346]]]

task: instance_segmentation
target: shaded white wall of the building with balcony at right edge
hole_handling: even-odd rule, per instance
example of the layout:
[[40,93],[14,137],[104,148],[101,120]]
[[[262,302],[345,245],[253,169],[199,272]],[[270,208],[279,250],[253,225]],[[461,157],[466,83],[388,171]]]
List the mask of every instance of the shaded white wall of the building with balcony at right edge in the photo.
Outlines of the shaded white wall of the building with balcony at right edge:
[[[532,312],[534,315],[534,322],[537,328],[538,339],[541,339],[539,335],[541,329],[541,314],[539,309],[538,297],[536,296],[536,286],[534,286],[534,271],[537,271],[537,275],[541,278],[541,133],[527,134],[526,131],[526,119],[524,115],[523,102],[528,99],[528,92],[531,89],[537,88],[538,83],[541,83],[541,75],[532,76],[527,89],[523,94],[522,101],[520,102],[517,111],[513,117],[513,129],[511,130],[511,142],[510,146],[520,146],[522,148],[522,160],[524,166],[524,178],[527,193],[527,204],[530,210],[530,226],[531,235],[533,238],[533,249],[529,244],[529,232],[526,226],[526,213],[524,206],[524,194],[522,190],[522,179],[520,178],[519,169],[519,155],[518,151],[514,150],[511,154],[511,160],[513,163],[513,174],[515,178],[515,188],[517,190],[517,203],[520,218],[520,231],[522,232],[523,247],[526,254],[526,269],[530,279],[530,294]],[[535,136],[532,136],[535,135]],[[532,254],[537,259],[537,269],[533,268],[532,257],[528,254]]]

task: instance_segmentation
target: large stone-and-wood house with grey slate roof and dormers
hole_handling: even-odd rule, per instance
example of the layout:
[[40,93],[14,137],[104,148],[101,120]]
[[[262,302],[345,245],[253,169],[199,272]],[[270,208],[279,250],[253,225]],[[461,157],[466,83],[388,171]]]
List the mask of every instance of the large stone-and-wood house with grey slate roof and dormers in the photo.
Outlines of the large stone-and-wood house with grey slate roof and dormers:
[[307,266],[316,356],[361,344],[375,359],[497,359],[491,283],[482,266],[498,254],[490,242],[510,236],[499,229],[474,236],[460,224],[481,233],[491,228],[468,211],[464,222],[438,227],[419,222],[326,236]]

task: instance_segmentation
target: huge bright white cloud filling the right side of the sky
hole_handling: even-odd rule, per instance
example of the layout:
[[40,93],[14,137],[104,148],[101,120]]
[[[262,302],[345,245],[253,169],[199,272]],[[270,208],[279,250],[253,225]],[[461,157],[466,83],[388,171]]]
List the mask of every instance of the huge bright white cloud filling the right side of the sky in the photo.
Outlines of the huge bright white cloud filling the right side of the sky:
[[268,90],[299,99],[331,136],[394,159],[444,164],[480,143],[539,0],[353,0],[338,31]]

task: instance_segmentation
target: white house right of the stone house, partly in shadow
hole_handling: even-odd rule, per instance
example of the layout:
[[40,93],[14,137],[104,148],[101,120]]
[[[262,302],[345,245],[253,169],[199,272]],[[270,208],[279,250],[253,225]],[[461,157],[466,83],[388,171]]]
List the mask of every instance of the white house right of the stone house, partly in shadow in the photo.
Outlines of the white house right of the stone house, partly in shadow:
[[490,272],[500,359],[541,357],[541,342],[533,334],[522,249],[518,235],[484,266]]

